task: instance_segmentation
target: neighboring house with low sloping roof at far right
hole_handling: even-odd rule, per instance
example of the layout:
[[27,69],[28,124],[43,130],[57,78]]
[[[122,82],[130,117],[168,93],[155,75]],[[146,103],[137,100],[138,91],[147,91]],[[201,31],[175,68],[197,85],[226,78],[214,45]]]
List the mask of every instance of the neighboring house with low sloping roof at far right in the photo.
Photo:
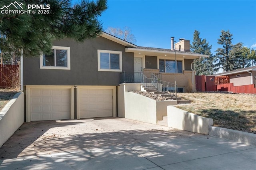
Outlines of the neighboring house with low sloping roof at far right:
[[256,84],[256,66],[218,73],[212,76],[226,76],[229,79],[229,83],[233,83],[234,86],[252,85]]

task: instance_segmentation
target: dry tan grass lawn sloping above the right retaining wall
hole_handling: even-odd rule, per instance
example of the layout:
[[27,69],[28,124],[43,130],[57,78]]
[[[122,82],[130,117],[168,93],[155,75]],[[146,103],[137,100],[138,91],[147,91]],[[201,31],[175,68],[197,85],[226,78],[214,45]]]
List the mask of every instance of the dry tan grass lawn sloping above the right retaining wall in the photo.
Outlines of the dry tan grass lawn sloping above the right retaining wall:
[[191,100],[180,109],[212,118],[214,126],[256,133],[256,95],[232,93],[178,93]]

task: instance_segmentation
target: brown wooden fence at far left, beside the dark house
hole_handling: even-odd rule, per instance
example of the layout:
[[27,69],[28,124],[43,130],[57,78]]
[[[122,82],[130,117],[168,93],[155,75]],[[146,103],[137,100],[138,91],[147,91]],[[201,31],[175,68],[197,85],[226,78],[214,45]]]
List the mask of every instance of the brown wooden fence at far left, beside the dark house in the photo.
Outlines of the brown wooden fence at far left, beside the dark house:
[[19,83],[19,65],[0,64],[0,88],[16,88]]

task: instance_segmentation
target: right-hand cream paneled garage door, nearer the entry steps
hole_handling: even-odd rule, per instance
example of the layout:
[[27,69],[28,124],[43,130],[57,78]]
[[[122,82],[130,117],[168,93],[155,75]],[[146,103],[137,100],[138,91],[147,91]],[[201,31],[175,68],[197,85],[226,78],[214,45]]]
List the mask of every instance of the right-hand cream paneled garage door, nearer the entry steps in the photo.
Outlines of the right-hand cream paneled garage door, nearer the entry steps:
[[80,89],[80,118],[112,117],[112,89]]

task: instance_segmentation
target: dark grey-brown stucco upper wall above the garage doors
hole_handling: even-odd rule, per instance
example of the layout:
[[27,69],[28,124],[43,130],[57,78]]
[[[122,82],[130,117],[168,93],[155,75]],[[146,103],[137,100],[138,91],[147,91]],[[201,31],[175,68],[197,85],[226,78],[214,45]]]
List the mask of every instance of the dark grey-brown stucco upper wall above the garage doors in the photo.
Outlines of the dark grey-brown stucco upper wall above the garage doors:
[[24,85],[119,85],[121,72],[98,71],[97,49],[122,51],[122,71],[134,72],[134,54],[125,46],[98,37],[83,43],[54,41],[53,45],[70,47],[70,70],[40,69],[39,56],[24,58]]

